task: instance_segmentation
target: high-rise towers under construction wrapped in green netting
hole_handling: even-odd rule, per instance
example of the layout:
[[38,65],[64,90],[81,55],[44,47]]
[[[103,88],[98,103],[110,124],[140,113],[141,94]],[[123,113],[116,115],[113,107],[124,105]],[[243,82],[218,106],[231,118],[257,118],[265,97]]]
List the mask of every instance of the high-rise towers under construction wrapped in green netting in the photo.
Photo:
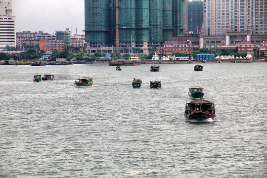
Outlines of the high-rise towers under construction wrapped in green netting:
[[183,0],[85,0],[87,50],[148,54],[182,34]]

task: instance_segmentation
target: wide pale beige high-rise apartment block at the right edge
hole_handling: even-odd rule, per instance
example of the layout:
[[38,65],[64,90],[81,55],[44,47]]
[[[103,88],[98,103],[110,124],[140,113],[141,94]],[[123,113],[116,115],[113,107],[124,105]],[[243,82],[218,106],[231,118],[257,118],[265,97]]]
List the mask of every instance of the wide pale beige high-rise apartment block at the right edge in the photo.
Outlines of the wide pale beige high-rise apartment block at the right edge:
[[253,34],[267,34],[266,0],[204,0],[205,35],[224,35],[245,32],[248,26]]

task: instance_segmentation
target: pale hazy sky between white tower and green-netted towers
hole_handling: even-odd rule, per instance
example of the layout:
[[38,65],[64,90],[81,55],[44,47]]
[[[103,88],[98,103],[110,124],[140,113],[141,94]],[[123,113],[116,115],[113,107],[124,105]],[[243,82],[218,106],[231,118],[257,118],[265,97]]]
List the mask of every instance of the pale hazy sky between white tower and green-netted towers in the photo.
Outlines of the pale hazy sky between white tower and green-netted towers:
[[12,0],[16,32],[72,30],[84,34],[85,0]]

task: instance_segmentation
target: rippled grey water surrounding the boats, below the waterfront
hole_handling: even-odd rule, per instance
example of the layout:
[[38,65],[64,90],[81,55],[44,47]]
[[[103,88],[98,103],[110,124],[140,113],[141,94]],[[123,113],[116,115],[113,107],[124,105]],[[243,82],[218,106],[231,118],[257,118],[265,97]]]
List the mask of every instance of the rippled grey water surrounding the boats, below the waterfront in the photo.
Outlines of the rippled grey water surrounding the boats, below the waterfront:
[[[266,178],[267,62],[203,66],[1,65],[0,178]],[[216,119],[185,120],[189,86]]]

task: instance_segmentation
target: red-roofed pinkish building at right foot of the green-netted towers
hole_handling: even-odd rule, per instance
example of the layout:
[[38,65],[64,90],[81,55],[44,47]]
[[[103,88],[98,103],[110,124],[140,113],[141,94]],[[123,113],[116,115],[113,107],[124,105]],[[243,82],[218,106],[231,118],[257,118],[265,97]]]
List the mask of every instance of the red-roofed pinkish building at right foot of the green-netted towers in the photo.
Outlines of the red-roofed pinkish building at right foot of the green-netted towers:
[[164,43],[163,52],[172,55],[172,52],[185,52],[191,46],[190,41],[169,41]]

